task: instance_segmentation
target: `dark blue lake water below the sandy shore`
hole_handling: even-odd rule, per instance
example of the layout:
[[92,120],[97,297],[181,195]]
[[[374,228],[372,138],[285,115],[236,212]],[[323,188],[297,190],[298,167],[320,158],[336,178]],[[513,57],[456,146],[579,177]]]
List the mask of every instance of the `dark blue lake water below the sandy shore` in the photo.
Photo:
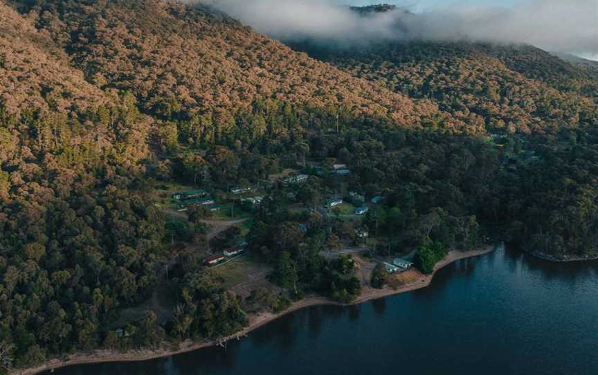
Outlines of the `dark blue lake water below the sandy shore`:
[[598,374],[598,263],[499,248],[431,286],[355,307],[312,307],[224,349],[57,375]]

